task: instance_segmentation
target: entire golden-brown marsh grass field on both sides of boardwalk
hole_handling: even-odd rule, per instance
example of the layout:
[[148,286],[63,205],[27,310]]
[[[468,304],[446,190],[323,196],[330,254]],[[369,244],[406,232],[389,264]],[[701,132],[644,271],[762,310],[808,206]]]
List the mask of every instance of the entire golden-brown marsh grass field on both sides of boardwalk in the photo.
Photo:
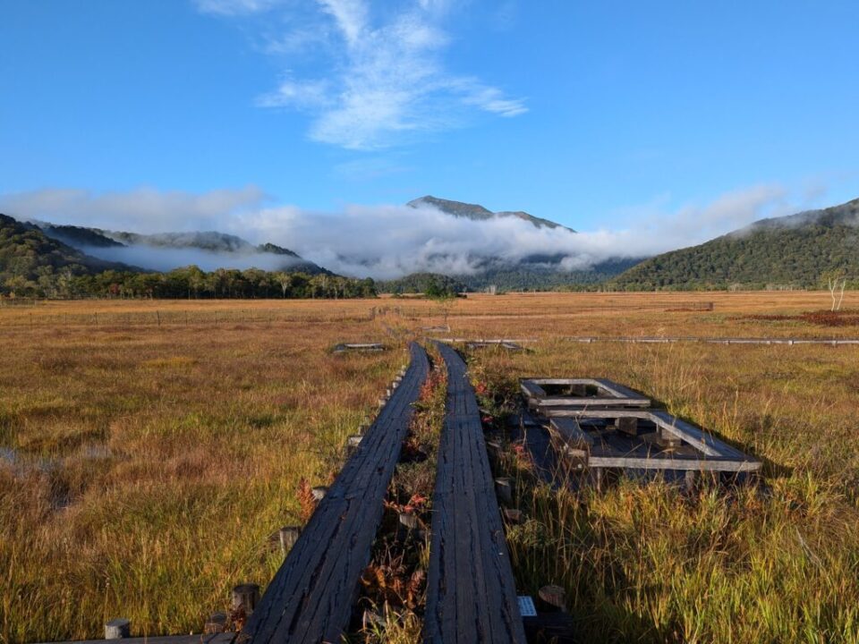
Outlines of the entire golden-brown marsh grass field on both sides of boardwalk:
[[[828,308],[823,292],[0,308],[0,641],[98,638],[116,616],[200,631],[235,584],[264,586],[299,480],[330,479],[405,341],[446,323],[433,335],[532,341],[469,356],[498,401],[521,376],[610,377],[764,462],[759,488],[690,497],[556,494],[507,459],[520,592],[566,587],[600,640],[859,641],[859,347],[566,339],[859,336],[749,318]],[[329,352],[344,341],[393,350]]]

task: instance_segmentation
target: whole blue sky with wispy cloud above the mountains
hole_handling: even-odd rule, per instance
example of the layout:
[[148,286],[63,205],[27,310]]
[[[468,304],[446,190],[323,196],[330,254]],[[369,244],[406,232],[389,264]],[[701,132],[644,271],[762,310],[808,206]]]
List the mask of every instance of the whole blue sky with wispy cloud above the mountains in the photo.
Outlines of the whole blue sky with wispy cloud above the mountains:
[[0,205],[742,224],[859,196],[857,24],[855,0],[0,0]]

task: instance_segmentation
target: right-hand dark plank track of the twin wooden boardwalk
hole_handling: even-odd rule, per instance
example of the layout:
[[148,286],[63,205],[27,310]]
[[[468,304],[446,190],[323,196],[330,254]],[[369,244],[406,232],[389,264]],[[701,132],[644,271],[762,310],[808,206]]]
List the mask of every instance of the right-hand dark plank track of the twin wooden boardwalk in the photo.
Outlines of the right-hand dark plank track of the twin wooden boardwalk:
[[437,345],[447,363],[447,417],[432,497],[424,641],[524,644],[477,399],[463,360]]

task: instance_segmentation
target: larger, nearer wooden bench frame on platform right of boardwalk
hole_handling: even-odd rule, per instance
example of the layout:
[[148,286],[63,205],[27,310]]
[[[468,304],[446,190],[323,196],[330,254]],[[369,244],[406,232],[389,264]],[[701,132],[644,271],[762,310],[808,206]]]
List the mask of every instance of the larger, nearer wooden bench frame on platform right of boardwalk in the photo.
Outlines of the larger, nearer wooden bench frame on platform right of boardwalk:
[[560,453],[581,467],[745,472],[761,462],[665,411],[540,406]]

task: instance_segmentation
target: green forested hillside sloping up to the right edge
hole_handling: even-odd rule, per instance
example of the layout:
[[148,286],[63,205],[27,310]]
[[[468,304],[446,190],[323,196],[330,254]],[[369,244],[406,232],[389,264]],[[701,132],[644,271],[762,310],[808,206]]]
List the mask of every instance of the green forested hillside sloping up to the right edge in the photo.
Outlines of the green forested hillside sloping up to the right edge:
[[650,258],[612,281],[617,288],[722,289],[739,284],[814,287],[825,271],[859,277],[859,199],[762,219],[692,248]]

